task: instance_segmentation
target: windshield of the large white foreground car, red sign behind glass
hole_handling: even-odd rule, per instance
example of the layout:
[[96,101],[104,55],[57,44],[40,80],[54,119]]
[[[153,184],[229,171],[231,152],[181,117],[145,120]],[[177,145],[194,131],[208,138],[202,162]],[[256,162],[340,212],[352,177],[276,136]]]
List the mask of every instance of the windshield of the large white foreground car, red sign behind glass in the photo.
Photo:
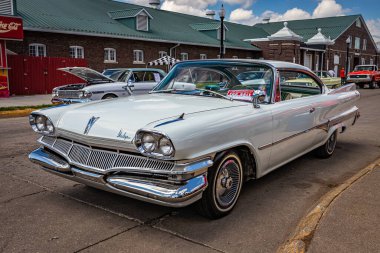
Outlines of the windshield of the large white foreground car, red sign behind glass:
[[273,71],[260,63],[202,61],[175,65],[153,93],[230,98],[252,101],[255,90],[263,91],[269,103],[273,85]]

